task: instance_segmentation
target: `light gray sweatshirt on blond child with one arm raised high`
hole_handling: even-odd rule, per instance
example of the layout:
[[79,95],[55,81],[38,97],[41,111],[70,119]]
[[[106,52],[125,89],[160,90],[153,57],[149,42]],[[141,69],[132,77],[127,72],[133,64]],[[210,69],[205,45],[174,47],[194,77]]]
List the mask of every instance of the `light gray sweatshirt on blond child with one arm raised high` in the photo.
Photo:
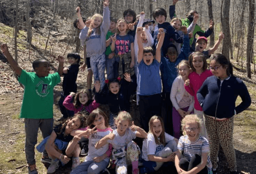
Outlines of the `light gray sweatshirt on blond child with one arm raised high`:
[[93,28],[93,33],[90,37],[87,37],[89,27],[84,27],[80,34],[81,46],[86,44],[87,56],[91,57],[93,55],[102,55],[106,50],[106,32],[108,32],[110,26],[110,12],[109,8],[105,7],[103,10],[103,21],[101,24],[101,34],[95,34],[95,28]]

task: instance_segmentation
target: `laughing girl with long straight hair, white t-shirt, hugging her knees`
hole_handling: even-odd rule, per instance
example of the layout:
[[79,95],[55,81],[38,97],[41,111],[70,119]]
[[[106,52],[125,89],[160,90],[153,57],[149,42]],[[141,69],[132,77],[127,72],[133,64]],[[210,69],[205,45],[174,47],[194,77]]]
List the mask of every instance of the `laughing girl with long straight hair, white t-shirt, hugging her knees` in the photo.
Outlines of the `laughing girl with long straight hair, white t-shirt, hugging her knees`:
[[[163,119],[159,116],[150,118],[150,131],[147,139],[143,141],[142,158],[144,168],[141,168],[140,173],[148,173],[158,171],[163,165],[163,162],[168,162],[166,165],[169,168],[174,168],[175,153],[177,151],[178,140],[165,132]],[[170,163],[169,161],[173,161]]]

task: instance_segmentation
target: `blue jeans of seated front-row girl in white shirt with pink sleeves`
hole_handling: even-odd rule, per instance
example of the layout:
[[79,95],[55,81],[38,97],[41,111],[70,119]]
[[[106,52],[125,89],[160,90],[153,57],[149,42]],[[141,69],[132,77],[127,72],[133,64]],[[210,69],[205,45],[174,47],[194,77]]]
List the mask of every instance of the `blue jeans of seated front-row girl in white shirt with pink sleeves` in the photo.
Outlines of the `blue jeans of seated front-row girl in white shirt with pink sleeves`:
[[109,162],[102,160],[101,162],[94,162],[94,161],[85,161],[82,162],[79,166],[77,166],[70,174],[98,174],[99,172],[103,171]]

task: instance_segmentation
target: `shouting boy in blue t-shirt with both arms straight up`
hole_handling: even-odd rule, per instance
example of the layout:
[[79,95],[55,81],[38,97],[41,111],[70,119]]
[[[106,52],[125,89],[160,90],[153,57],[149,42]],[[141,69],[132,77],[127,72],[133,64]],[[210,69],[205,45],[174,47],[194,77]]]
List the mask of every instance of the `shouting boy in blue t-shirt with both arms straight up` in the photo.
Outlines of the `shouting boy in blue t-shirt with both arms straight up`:
[[162,108],[162,84],[159,74],[161,64],[161,47],[165,32],[163,28],[159,29],[160,38],[157,44],[157,50],[148,46],[143,47],[141,33],[142,27],[137,28],[138,38],[138,96],[140,101],[138,107],[140,110],[140,125],[145,131],[148,131],[148,121],[153,115],[161,115]]

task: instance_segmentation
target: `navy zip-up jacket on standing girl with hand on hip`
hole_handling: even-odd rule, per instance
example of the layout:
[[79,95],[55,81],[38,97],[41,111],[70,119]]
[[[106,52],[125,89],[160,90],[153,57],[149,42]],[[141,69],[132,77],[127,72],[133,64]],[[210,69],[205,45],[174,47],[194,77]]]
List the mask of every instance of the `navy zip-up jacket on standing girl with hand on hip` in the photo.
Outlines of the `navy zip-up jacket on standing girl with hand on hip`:
[[[236,107],[237,96],[242,102]],[[251,105],[251,97],[243,81],[234,76],[222,84],[216,76],[208,77],[197,92],[198,102],[206,115],[216,118],[231,118]]]

